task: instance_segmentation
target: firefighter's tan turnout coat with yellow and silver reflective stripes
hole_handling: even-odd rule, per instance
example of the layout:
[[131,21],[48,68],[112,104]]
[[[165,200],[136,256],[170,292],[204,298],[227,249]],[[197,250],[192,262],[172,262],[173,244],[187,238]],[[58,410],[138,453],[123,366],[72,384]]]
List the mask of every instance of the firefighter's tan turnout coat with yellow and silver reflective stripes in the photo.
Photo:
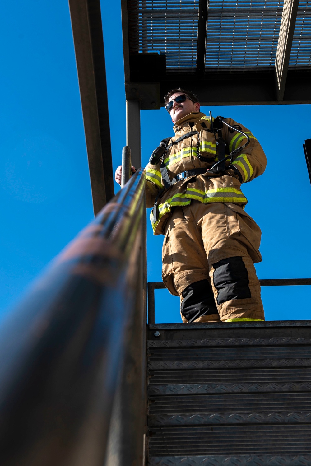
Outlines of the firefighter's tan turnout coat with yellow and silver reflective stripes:
[[[249,182],[264,172],[267,163],[264,151],[256,137],[247,128],[231,118],[225,118],[225,121],[231,126],[238,125],[250,137],[250,143],[233,160],[233,164],[240,172],[243,182]],[[190,136],[174,144],[167,154],[164,155],[163,162],[166,165],[170,179],[183,171],[189,171],[194,168],[210,168],[218,160],[216,138],[210,130],[210,118],[201,112],[191,112],[186,117],[178,120],[174,125],[175,136],[171,138],[169,143],[183,136],[183,134],[195,130],[199,134]],[[223,125],[222,137],[226,143],[226,155],[246,142],[246,138],[243,135],[238,131],[230,130],[225,125]],[[203,162],[197,157],[198,142],[200,154],[204,158],[208,158],[208,162]],[[228,160],[226,166],[228,167],[229,165],[230,161]],[[160,164],[148,164],[146,171],[147,207],[152,207],[154,206],[156,196],[164,187]],[[202,175],[188,177],[161,193],[157,199],[158,212],[156,222],[153,222],[153,214],[151,213],[150,215],[154,234],[164,233],[163,227],[170,216],[172,207],[187,206],[191,203],[192,199],[198,200],[203,204],[222,202],[244,206],[247,203],[247,199],[240,188],[239,177],[232,169],[227,169],[226,174],[223,176],[215,176],[214,178],[209,178],[209,176],[210,174],[203,173]]]

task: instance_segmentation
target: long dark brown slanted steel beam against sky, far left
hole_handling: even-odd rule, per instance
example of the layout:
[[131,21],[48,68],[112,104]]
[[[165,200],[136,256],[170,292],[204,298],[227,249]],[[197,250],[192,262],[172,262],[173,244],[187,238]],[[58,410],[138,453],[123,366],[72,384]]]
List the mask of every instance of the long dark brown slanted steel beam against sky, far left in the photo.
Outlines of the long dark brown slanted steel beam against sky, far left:
[[100,0],[68,0],[94,213],[114,196]]

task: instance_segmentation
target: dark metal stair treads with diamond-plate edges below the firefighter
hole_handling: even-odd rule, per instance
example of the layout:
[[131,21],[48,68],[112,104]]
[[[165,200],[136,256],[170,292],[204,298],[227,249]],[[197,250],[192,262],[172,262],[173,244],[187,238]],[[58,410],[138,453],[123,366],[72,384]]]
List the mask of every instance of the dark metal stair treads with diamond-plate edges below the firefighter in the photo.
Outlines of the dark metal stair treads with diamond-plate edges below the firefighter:
[[311,464],[311,321],[150,324],[149,466]]

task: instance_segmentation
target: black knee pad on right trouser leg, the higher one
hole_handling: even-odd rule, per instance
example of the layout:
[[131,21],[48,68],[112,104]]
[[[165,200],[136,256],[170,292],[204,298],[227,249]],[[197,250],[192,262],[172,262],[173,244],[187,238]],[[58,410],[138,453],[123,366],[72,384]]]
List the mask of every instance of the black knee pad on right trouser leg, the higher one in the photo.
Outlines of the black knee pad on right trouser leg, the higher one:
[[250,298],[248,272],[242,257],[228,257],[213,264],[217,304],[230,299]]

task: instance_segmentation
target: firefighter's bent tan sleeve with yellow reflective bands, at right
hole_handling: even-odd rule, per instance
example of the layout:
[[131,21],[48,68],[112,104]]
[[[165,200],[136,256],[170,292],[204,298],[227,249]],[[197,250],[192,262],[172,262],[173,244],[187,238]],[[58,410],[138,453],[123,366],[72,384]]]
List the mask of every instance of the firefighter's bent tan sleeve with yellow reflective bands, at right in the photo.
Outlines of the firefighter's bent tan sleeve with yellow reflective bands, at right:
[[[267,165],[267,158],[264,154],[263,148],[250,130],[245,128],[242,124],[235,122],[232,118],[224,118],[224,120],[231,126],[239,126],[241,130],[250,137],[249,144],[234,158],[232,162],[232,164],[235,165],[241,173],[243,183],[246,183],[264,173]],[[246,137],[241,133],[230,130],[226,125],[223,125],[222,133],[229,153],[245,144],[247,141]]]

